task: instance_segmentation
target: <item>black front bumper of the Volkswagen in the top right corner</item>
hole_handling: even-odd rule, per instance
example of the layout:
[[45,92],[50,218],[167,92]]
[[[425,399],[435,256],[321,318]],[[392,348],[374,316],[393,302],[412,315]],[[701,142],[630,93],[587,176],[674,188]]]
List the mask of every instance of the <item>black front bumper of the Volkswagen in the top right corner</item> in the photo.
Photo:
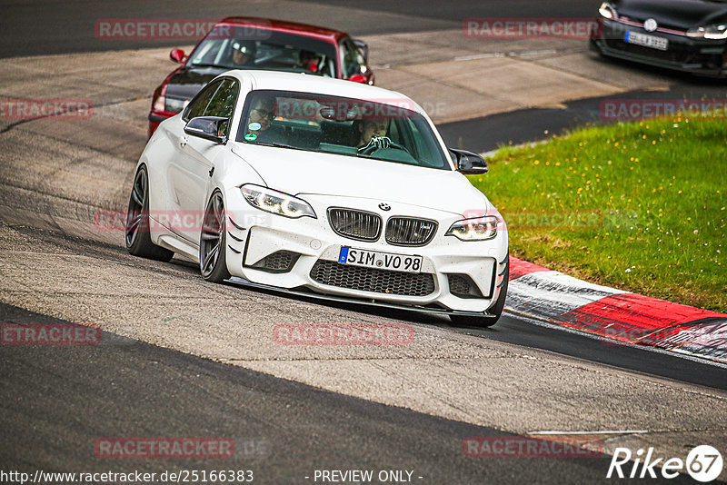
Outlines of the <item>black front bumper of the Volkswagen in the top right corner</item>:
[[[707,77],[727,76],[727,41],[696,39],[671,32],[646,32],[639,25],[598,18],[598,29],[591,37],[590,47],[603,55],[641,64],[692,73]],[[626,32],[658,35],[669,41],[661,51],[624,42]]]

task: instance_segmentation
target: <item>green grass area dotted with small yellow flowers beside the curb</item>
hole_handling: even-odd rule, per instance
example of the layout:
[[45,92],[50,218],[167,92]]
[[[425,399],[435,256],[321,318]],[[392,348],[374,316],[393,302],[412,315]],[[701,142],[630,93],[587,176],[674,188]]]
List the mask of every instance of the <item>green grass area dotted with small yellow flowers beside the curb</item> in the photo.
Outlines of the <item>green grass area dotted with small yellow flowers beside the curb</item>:
[[[490,173],[471,181],[503,213],[514,256],[727,311],[727,121],[584,128],[533,147],[503,147],[488,164]],[[559,223],[563,214],[593,218],[582,228]]]

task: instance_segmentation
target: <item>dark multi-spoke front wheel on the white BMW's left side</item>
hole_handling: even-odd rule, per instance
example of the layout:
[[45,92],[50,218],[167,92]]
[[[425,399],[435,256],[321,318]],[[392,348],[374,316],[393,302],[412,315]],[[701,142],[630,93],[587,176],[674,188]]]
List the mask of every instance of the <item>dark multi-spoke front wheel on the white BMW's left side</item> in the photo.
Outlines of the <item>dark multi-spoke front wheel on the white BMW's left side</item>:
[[214,191],[204,210],[202,232],[199,236],[199,270],[208,282],[224,282],[230,278],[227,271],[227,231],[224,200],[220,191]]

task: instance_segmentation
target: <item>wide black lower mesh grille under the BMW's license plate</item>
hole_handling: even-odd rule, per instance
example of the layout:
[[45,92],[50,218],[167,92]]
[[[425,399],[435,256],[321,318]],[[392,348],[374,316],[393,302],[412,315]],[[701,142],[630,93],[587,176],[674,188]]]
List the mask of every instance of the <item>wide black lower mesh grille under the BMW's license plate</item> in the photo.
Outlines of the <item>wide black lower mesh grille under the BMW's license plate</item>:
[[362,292],[426,296],[434,292],[434,275],[428,272],[393,272],[318,260],[311,270],[315,282]]

